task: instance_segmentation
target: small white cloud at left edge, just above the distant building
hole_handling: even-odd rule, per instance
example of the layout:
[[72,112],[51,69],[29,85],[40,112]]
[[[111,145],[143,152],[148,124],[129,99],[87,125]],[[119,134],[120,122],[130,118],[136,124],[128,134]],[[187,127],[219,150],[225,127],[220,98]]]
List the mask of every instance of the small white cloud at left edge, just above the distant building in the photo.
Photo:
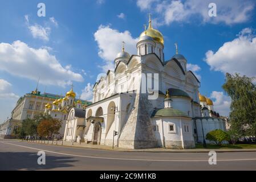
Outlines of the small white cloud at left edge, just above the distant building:
[[11,91],[11,84],[3,79],[0,79],[0,99],[19,98]]

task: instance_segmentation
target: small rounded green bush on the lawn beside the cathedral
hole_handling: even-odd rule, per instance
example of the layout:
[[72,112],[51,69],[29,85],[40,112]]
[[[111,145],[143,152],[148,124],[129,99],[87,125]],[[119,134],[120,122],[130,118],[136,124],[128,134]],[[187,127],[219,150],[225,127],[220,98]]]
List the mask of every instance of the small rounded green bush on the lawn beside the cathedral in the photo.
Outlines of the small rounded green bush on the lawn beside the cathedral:
[[222,145],[222,142],[229,141],[230,140],[230,136],[229,134],[227,134],[225,131],[222,130],[213,130],[210,131],[207,135],[206,135],[206,139],[213,141],[214,143],[216,143],[218,146]]

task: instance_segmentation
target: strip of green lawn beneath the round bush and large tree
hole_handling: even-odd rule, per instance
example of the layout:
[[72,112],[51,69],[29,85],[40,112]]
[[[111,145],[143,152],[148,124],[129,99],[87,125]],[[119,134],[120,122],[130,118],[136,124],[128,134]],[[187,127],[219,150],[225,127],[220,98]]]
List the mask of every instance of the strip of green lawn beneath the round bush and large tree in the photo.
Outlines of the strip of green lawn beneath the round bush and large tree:
[[[200,143],[196,143],[196,148],[204,148],[204,146]],[[222,146],[217,146],[216,144],[207,144],[206,148],[210,149],[228,149],[228,148],[234,148],[234,149],[242,149],[242,148],[256,148],[256,144],[223,144]]]

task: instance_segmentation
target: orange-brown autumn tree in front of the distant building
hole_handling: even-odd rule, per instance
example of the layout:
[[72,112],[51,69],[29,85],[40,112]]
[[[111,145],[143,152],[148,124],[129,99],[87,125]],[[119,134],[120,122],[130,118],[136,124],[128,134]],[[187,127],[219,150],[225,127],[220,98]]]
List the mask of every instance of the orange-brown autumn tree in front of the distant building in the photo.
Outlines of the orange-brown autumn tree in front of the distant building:
[[60,127],[62,127],[62,122],[59,119],[43,119],[37,127],[37,132],[41,137],[51,137],[59,134]]

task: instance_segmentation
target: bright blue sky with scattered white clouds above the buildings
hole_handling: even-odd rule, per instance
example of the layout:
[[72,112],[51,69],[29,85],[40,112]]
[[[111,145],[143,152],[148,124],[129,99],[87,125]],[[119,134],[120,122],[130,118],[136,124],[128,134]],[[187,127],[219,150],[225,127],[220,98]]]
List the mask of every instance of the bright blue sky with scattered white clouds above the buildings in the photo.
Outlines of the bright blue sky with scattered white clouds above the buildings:
[[[46,17],[37,16],[40,2]],[[217,5],[217,17],[208,15],[210,2]],[[1,0],[0,123],[19,96],[35,89],[38,77],[41,92],[64,95],[72,82],[76,93],[90,99],[92,85],[112,68],[121,42],[135,53],[148,13],[164,35],[165,60],[174,55],[177,42],[179,53],[201,77],[200,92],[227,115],[224,73],[256,76],[255,12],[250,0]]]

